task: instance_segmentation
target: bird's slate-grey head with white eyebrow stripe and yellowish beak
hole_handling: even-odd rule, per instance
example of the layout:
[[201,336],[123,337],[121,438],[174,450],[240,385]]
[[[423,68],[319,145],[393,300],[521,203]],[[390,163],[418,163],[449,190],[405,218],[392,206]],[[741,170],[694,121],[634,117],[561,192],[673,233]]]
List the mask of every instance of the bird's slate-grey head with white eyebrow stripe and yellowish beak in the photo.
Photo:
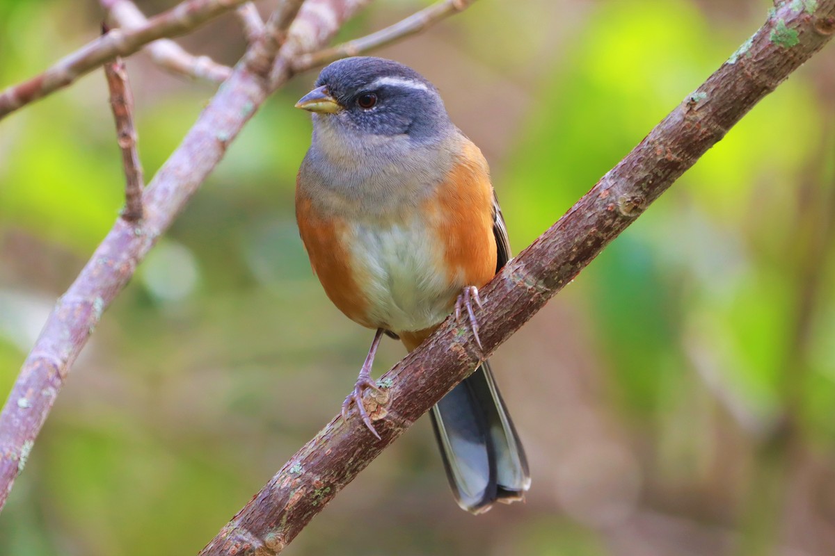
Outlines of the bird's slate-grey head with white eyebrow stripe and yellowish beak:
[[412,68],[384,58],[331,63],[296,108],[313,113],[314,126],[359,137],[407,136],[426,143],[453,127],[438,89]]

